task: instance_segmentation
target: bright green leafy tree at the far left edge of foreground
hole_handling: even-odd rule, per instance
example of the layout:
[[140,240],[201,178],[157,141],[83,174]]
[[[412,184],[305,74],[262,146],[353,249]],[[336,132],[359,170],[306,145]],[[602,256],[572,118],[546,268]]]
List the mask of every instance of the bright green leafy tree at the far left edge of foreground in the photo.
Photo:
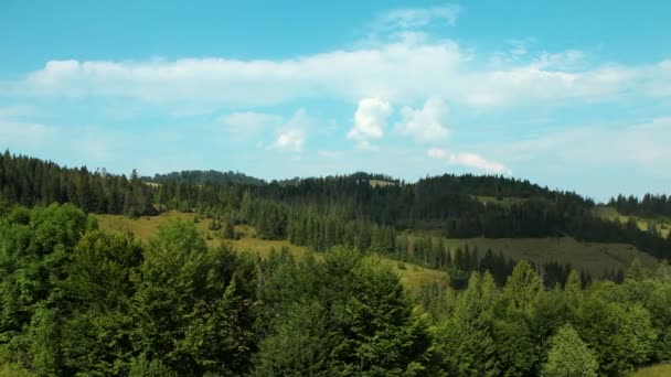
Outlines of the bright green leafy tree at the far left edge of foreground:
[[58,368],[58,284],[86,228],[87,216],[72,205],[14,207],[0,218],[0,346],[10,362],[43,374]]

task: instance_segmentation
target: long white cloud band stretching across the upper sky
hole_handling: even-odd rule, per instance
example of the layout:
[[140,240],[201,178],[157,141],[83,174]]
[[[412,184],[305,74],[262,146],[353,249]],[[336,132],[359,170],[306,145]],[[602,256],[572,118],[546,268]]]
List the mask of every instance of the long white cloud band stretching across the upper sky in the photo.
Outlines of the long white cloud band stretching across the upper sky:
[[671,95],[671,61],[585,68],[581,56],[579,51],[543,53],[491,68],[472,64],[478,56],[449,40],[404,40],[284,61],[52,61],[17,90],[25,96],[121,97],[194,107],[264,106],[307,97],[411,104],[440,97],[481,108]]

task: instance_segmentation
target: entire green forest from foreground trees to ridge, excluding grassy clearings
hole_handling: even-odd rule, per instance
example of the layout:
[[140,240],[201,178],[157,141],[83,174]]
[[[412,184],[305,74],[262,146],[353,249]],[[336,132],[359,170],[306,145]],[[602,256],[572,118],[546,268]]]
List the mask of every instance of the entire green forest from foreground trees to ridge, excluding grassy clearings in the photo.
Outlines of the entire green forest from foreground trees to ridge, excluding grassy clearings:
[[[149,180],[6,152],[0,198],[9,375],[627,376],[671,362],[671,240],[528,181]],[[613,202],[639,216],[668,203]],[[211,219],[223,239],[245,225],[311,252],[212,246],[184,220],[146,241],[97,219],[169,211]],[[632,245],[657,263],[590,276],[443,241],[564,236]],[[382,257],[443,271],[449,284],[407,289]]]

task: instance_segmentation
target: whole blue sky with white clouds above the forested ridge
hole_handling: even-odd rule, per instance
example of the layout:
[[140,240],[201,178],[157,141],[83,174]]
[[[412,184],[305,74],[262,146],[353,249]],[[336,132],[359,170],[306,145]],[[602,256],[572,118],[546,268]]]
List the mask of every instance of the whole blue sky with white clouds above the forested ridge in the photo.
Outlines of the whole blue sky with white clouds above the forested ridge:
[[671,188],[668,1],[0,1],[0,148]]

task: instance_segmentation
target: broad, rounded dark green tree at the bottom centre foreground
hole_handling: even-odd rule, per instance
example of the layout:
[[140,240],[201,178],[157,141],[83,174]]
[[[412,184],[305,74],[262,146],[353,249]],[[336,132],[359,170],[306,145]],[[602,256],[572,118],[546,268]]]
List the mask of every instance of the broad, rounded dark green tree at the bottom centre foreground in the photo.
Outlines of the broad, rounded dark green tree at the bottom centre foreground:
[[334,250],[323,263],[271,257],[259,306],[268,336],[255,375],[388,376],[420,371],[423,322],[398,278],[375,260]]

